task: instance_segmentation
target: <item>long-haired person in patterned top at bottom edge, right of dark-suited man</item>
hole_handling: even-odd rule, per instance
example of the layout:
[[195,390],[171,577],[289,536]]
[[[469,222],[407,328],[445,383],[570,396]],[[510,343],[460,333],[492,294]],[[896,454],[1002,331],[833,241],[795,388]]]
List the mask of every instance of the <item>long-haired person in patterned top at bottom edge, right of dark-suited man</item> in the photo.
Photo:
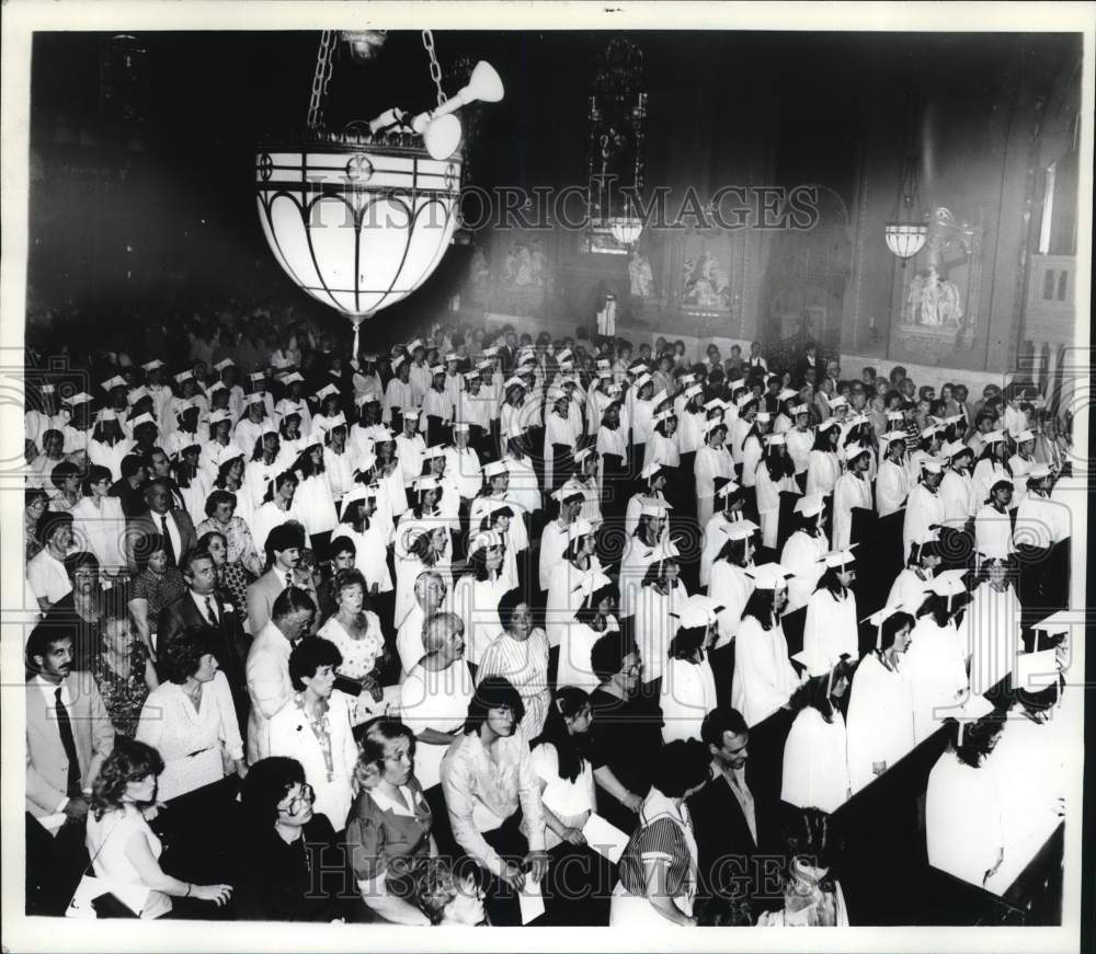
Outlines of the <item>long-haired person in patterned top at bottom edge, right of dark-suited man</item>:
[[847,928],[848,911],[834,876],[836,839],[830,816],[801,808],[788,824],[785,838],[784,907],[765,911],[758,928]]

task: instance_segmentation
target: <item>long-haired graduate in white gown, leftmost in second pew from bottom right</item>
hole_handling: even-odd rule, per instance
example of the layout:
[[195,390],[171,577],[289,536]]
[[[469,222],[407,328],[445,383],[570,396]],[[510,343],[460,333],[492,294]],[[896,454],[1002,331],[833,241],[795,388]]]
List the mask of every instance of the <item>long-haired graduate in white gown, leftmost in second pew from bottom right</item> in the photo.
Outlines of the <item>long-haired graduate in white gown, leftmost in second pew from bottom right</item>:
[[780,800],[800,808],[835,812],[852,794],[848,740],[838,700],[848,691],[852,664],[808,659],[808,679],[791,697],[795,716],[784,744]]

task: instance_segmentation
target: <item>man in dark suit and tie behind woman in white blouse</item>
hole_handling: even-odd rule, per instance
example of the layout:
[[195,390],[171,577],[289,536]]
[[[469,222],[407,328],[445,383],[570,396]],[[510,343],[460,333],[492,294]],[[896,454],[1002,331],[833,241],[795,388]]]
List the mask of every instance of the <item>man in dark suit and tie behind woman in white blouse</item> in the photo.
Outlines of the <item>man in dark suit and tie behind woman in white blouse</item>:
[[160,647],[179,633],[194,627],[208,627],[217,634],[217,662],[232,689],[240,725],[247,725],[248,685],[243,675],[251,641],[243,633],[240,611],[217,594],[217,567],[205,549],[192,548],[180,567],[187,590],[160,610],[158,633]]

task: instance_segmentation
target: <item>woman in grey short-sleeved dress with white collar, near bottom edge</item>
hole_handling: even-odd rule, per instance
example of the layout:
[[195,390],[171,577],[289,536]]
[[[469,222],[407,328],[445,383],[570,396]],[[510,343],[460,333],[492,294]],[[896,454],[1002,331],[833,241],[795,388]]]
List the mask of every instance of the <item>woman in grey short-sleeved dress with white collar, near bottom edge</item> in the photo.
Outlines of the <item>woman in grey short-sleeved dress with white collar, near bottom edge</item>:
[[379,716],[363,726],[361,746],[346,850],[362,900],[386,922],[430,923],[409,900],[418,871],[437,854],[433,813],[415,777],[414,735]]

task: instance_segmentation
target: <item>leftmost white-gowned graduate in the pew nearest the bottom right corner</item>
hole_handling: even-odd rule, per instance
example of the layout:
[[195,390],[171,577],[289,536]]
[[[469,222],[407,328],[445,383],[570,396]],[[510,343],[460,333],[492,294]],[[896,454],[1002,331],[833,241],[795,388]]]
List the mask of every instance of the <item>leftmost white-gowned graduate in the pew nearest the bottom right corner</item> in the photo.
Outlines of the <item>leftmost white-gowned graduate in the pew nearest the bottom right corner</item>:
[[986,765],[1003,726],[992,703],[970,696],[947,721],[948,748],[925,793],[928,863],[979,887],[1004,861],[997,773]]

